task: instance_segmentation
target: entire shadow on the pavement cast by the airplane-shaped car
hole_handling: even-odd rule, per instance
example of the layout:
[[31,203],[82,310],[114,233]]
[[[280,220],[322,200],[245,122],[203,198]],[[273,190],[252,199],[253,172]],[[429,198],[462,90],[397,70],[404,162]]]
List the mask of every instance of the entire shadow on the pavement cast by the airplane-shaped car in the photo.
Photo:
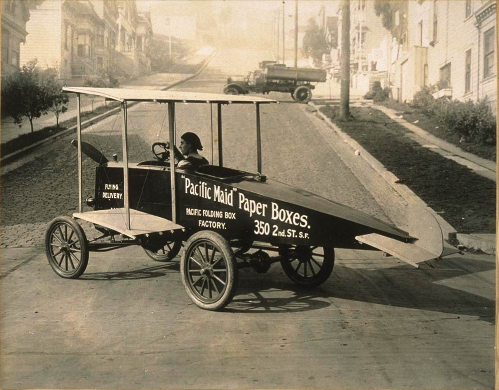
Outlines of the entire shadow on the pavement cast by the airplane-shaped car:
[[[328,307],[334,299],[345,299],[447,313],[452,316],[449,319],[475,316],[477,320],[494,324],[493,299],[443,284],[446,279],[470,277],[474,282],[469,283],[472,288],[483,285],[493,289],[490,285],[492,281],[476,274],[493,270],[494,262],[461,257],[433,263],[435,268],[431,269],[415,269],[406,265],[361,268],[337,264],[328,281],[311,289],[293,284],[275,266],[267,274],[246,269],[240,272],[236,297],[225,311],[260,314],[309,311]],[[180,264],[175,261],[128,271],[85,273],[80,278],[131,280],[179,272]],[[180,274],[175,277],[180,277]]]

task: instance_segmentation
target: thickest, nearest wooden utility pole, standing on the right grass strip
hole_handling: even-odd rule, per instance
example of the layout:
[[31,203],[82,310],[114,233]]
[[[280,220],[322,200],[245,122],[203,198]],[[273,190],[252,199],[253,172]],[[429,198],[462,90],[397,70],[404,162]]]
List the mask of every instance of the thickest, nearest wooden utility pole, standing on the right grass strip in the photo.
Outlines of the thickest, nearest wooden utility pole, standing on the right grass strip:
[[350,1],[341,4],[340,119],[350,117]]

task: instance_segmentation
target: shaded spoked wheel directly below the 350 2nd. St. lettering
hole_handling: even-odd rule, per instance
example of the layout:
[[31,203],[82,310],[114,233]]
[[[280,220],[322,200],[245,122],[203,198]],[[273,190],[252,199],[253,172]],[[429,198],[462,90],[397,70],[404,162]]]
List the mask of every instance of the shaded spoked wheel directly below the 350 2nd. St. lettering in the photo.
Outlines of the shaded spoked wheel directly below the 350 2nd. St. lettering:
[[334,267],[334,248],[281,247],[280,261],[287,277],[300,286],[316,287],[324,283]]

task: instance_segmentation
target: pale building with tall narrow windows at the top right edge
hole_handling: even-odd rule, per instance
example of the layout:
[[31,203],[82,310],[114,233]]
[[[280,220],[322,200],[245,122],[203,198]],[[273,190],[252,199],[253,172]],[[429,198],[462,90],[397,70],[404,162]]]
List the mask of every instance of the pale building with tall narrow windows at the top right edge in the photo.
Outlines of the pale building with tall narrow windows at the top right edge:
[[[426,0],[428,84],[437,97],[497,101],[495,0]],[[423,20],[423,19],[422,19]]]

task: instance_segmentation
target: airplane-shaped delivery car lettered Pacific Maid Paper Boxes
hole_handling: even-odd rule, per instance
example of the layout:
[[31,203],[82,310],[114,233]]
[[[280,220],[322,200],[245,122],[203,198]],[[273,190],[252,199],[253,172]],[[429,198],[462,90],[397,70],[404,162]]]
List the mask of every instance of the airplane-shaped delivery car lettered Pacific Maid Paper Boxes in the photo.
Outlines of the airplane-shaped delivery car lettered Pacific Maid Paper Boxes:
[[[411,234],[334,201],[267,179],[262,173],[260,106],[276,103],[259,97],[111,88],[64,87],[65,92],[96,95],[121,102],[123,160],[109,160],[82,141],[78,117],[78,212],[54,218],[46,231],[48,262],[59,276],[78,278],[89,252],[139,245],[157,261],[172,261],[184,248],[181,277],[189,298],[199,307],[226,306],[238,284],[238,272],[253,267],[266,272],[279,262],[295,283],[314,287],[334,266],[335,248],[379,249],[417,266],[449,255],[437,221],[424,211]],[[175,104],[218,106],[219,164],[178,167],[163,142],[152,144],[154,159],[128,161],[127,103],[168,105],[169,142],[175,143]],[[257,172],[224,166],[222,105],[256,108]],[[78,113],[80,110],[78,110]],[[95,194],[83,210],[82,153],[97,164]],[[100,234],[88,239],[77,220]],[[104,241],[103,241],[104,240]],[[275,254],[276,256],[270,256]]]

